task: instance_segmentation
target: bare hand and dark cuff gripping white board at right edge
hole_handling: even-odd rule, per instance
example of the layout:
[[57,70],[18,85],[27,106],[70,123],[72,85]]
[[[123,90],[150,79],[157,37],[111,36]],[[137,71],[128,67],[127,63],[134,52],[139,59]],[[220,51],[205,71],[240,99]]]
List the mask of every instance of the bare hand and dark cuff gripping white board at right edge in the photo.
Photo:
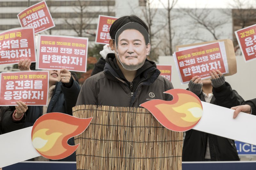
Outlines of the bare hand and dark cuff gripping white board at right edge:
[[256,98],[245,101],[243,105],[231,107],[231,109],[235,110],[233,118],[236,118],[240,112],[256,115]]

